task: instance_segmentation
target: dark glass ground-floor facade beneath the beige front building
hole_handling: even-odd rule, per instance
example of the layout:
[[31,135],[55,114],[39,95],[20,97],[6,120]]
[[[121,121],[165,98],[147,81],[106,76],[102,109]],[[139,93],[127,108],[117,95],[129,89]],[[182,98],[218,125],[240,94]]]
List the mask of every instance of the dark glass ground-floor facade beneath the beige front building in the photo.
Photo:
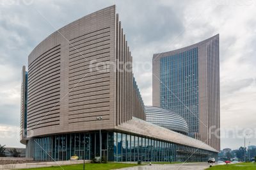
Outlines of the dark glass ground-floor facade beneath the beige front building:
[[100,156],[109,162],[202,162],[217,153],[177,143],[170,143],[140,135],[121,132],[91,132],[60,134],[30,139],[26,156],[40,161],[79,159],[90,160]]

